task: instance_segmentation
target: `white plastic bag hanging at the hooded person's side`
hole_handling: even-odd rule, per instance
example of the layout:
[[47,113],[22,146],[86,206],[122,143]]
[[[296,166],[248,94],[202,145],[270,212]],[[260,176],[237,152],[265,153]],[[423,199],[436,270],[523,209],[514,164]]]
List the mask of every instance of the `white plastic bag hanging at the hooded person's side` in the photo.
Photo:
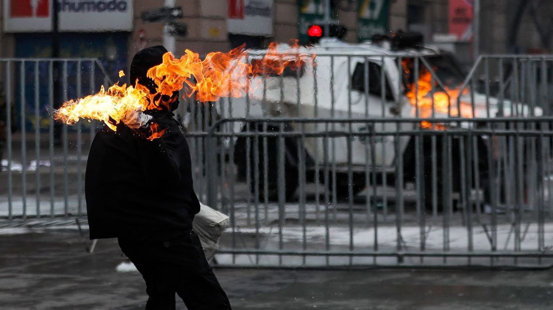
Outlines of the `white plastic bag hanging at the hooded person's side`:
[[219,238],[229,225],[228,217],[200,202],[200,213],[194,217],[192,229],[200,237],[206,259],[210,260],[219,248]]

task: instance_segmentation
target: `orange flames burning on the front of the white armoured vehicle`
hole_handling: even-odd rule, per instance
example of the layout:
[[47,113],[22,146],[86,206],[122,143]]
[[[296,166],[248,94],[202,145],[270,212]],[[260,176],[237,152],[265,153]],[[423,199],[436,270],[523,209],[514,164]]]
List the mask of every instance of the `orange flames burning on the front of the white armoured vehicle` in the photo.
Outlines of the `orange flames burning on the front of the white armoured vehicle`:
[[[409,75],[410,70],[405,60],[402,65],[404,73]],[[432,80],[432,73],[426,70],[426,68],[421,70],[416,84],[408,83],[406,96],[411,105],[419,108],[419,117],[432,117],[432,108],[434,108],[435,113],[449,114],[452,116],[459,115],[457,98],[460,96],[461,91],[458,88],[450,88],[448,86],[444,87],[445,91],[439,91],[437,90],[437,86],[436,80]],[[432,93],[432,88],[434,88],[434,93]],[[467,92],[468,90],[465,89],[463,94]],[[432,102],[432,98],[434,98],[434,102]],[[461,116],[473,117],[470,104],[461,102]],[[422,128],[432,128],[432,123],[430,122],[423,121],[420,125]],[[444,129],[444,126],[440,124],[434,124],[434,127],[436,129]]]

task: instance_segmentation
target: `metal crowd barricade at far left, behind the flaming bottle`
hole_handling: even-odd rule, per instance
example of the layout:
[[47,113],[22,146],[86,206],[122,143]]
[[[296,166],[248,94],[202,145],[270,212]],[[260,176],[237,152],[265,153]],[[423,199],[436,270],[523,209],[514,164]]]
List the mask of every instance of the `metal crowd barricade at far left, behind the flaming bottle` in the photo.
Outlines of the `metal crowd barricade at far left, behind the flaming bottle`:
[[0,225],[86,216],[84,167],[98,125],[55,124],[49,109],[111,85],[106,71],[97,59],[0,59],[0,82]]

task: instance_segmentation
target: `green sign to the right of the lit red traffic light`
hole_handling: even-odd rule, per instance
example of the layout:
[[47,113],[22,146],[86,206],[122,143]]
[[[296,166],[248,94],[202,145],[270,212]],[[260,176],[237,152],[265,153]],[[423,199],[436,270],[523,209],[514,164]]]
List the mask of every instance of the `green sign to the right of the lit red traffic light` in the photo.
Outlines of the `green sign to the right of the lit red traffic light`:
[[357,6],[357,39],[371,39],[375,34],[388,32],[388,0],[359,0]]

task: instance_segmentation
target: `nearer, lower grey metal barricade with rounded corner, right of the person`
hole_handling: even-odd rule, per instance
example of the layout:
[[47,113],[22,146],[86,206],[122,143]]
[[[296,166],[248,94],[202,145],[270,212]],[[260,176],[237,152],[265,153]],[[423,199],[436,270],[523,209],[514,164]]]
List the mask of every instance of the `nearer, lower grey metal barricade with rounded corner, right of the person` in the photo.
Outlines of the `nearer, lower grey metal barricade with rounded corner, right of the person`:
[[[211,128],[208,141],[208,203],[231,218],[223,235],[217,264],[261,267],[367,267],[367,266],[532,266],[553,263],[551,204],[546,171],[553,164],[553,135],[545,124],[553,118],[397,118],[397,119],[224,119]],[[420,129],[429,121],[447,130]],[[258,123],[249,132],[234,132],[233,123]],[[276,124],[278,130],[267,130]],[[291,124],[291,129],[285,126]],[[330,130],[335,124],[334,130]],[[371,130],[358,131],[358,125]],[[390,124],[380,130],[378,124]],[[509,128],[513,125],[515,129]],[[353,128],[353,131],[352,131]],[[404,165],[401,140],[433,138],[439,146],[435,175],[420,161]],[[475,153],[476,140],[492,141],[494,154]],[[249,143],[246,143],[247,140]],[[290,141],[297,148],[290,149]],[[356,141],[363,141],[364,165],[354,164]],[[425,139],[429,143],[431,139]],[[382,184],[375,166],[380,143],[393,145],[394,180]],[[507,143],[507,153],[499,146]],[[251,178],[239,177],[234,162],[237,146],[249,145],[246,156]],[[332,144],[343,147],[347,165],[333,167]],[[305,147],[310,145],[310,147]],[[498,148],[499,147],[499,148]],[[530,148],[535,147],[535,151]],[[510,150],[509,150],[510,149]],[[269,150],[269,151],[267,151]],[[427,149],[421,149],[421,159]],[[483,151],[482,149],[480,150]],[[461,152],[461,153],[458,153]],[[398,156],[399,154],[399,156]],[[293,170],[289,161],[296,161]],[[484,167],[478,160],[491,162]],[[513,162],[500,167],[504,161]],[[535,162],[526,165],[527,162]],[[361,167],[361,170],[358,168]],[[413,169],[414,168],[414,169]],[[276,173],[275,197],[267,176]],[[407,189],[405,173],[416,172],[415,185]],[[535,173],[531,175],[531,173]],[[345,192],[336,191],[337,174],[347,177]],[[488,185],[473,181],[489,176]],[[528,177],[530,175],[530,177]],[[355,178],[364,188],[356,193]],[[288,178],[298,178],[289,182]],[[438,214],[430,216],[425,203],[425,178],[437,178]],[[464,184],[456,186],[457,182]],[[482,180],[481,180],[482,181]],[[287,186],[298,185],[295,197],[286,197]],[[514,194],[500,191],[505,183]],[[532,185],[534,184],[534,186]],[[269,186],[268,186],[269,185]],[[434,188],[436,190],[436,186]],[[384,214],[383,193],[388,191]],[[480,192],[480,193],[478,193]],[[514,199],[510,196],[514,195]]]

